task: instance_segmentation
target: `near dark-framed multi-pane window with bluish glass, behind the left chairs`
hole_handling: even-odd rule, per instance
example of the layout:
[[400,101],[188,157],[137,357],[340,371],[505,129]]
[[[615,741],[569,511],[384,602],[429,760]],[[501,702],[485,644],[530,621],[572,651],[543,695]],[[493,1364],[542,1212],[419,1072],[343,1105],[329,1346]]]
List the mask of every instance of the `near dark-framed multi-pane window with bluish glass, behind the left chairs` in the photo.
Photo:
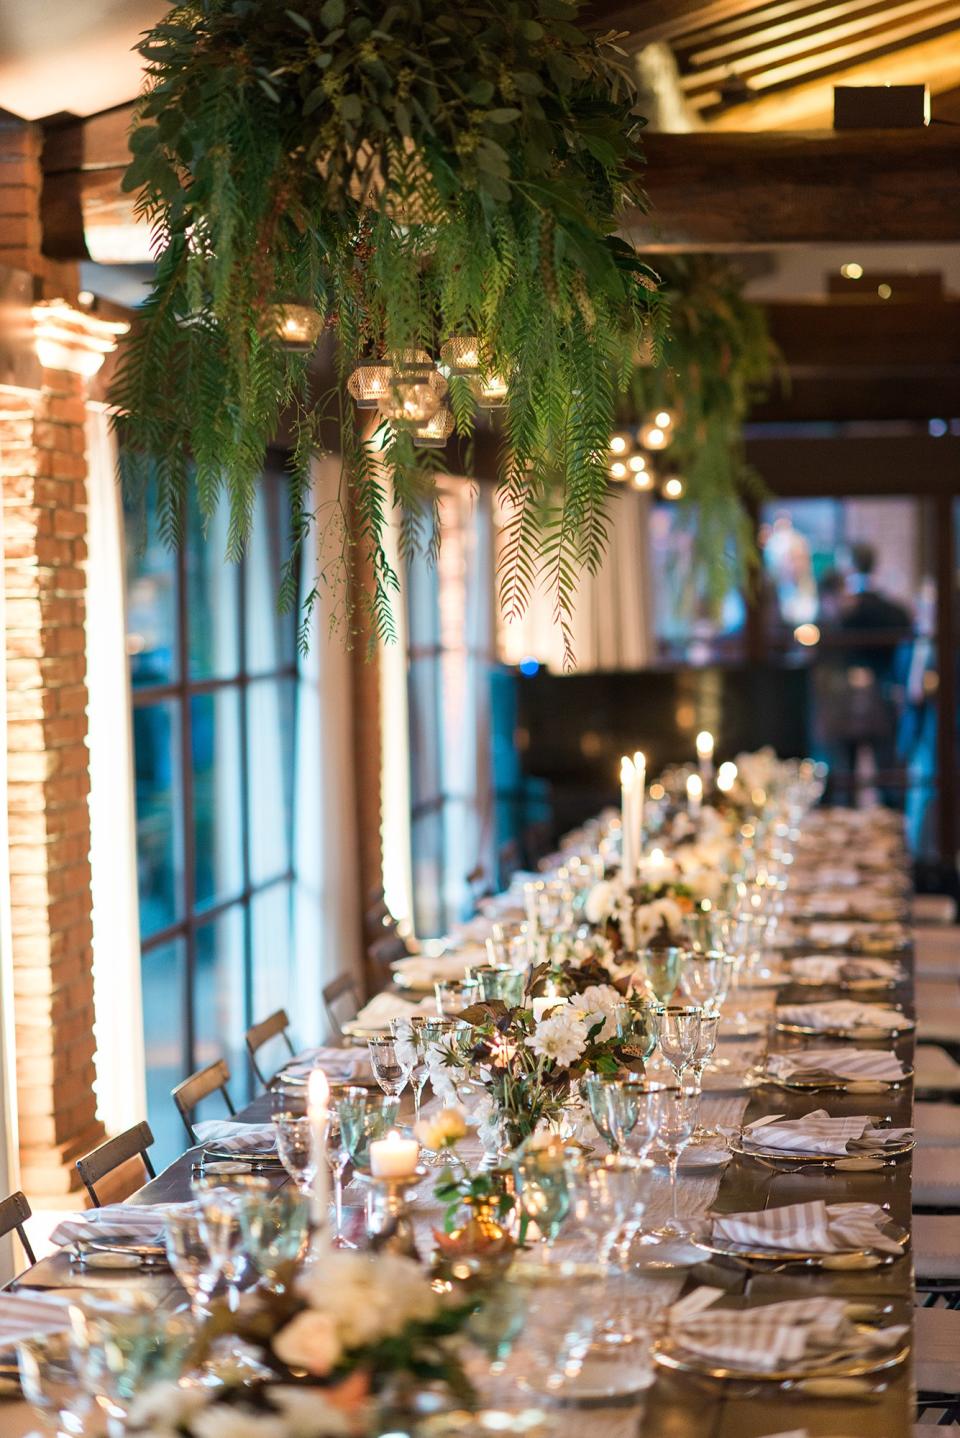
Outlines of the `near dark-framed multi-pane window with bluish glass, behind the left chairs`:
[[297,664],[296,615],[276,605],[279,464],[239,564],[223,558],[226,522],[221,508],[204,535],[191,505],[172,552],[148,505],[126,559],[147,1102],[162,1160],[184,1143],[172,1086],[224,1057],[243,1102],[244,1030],[290,995]]

